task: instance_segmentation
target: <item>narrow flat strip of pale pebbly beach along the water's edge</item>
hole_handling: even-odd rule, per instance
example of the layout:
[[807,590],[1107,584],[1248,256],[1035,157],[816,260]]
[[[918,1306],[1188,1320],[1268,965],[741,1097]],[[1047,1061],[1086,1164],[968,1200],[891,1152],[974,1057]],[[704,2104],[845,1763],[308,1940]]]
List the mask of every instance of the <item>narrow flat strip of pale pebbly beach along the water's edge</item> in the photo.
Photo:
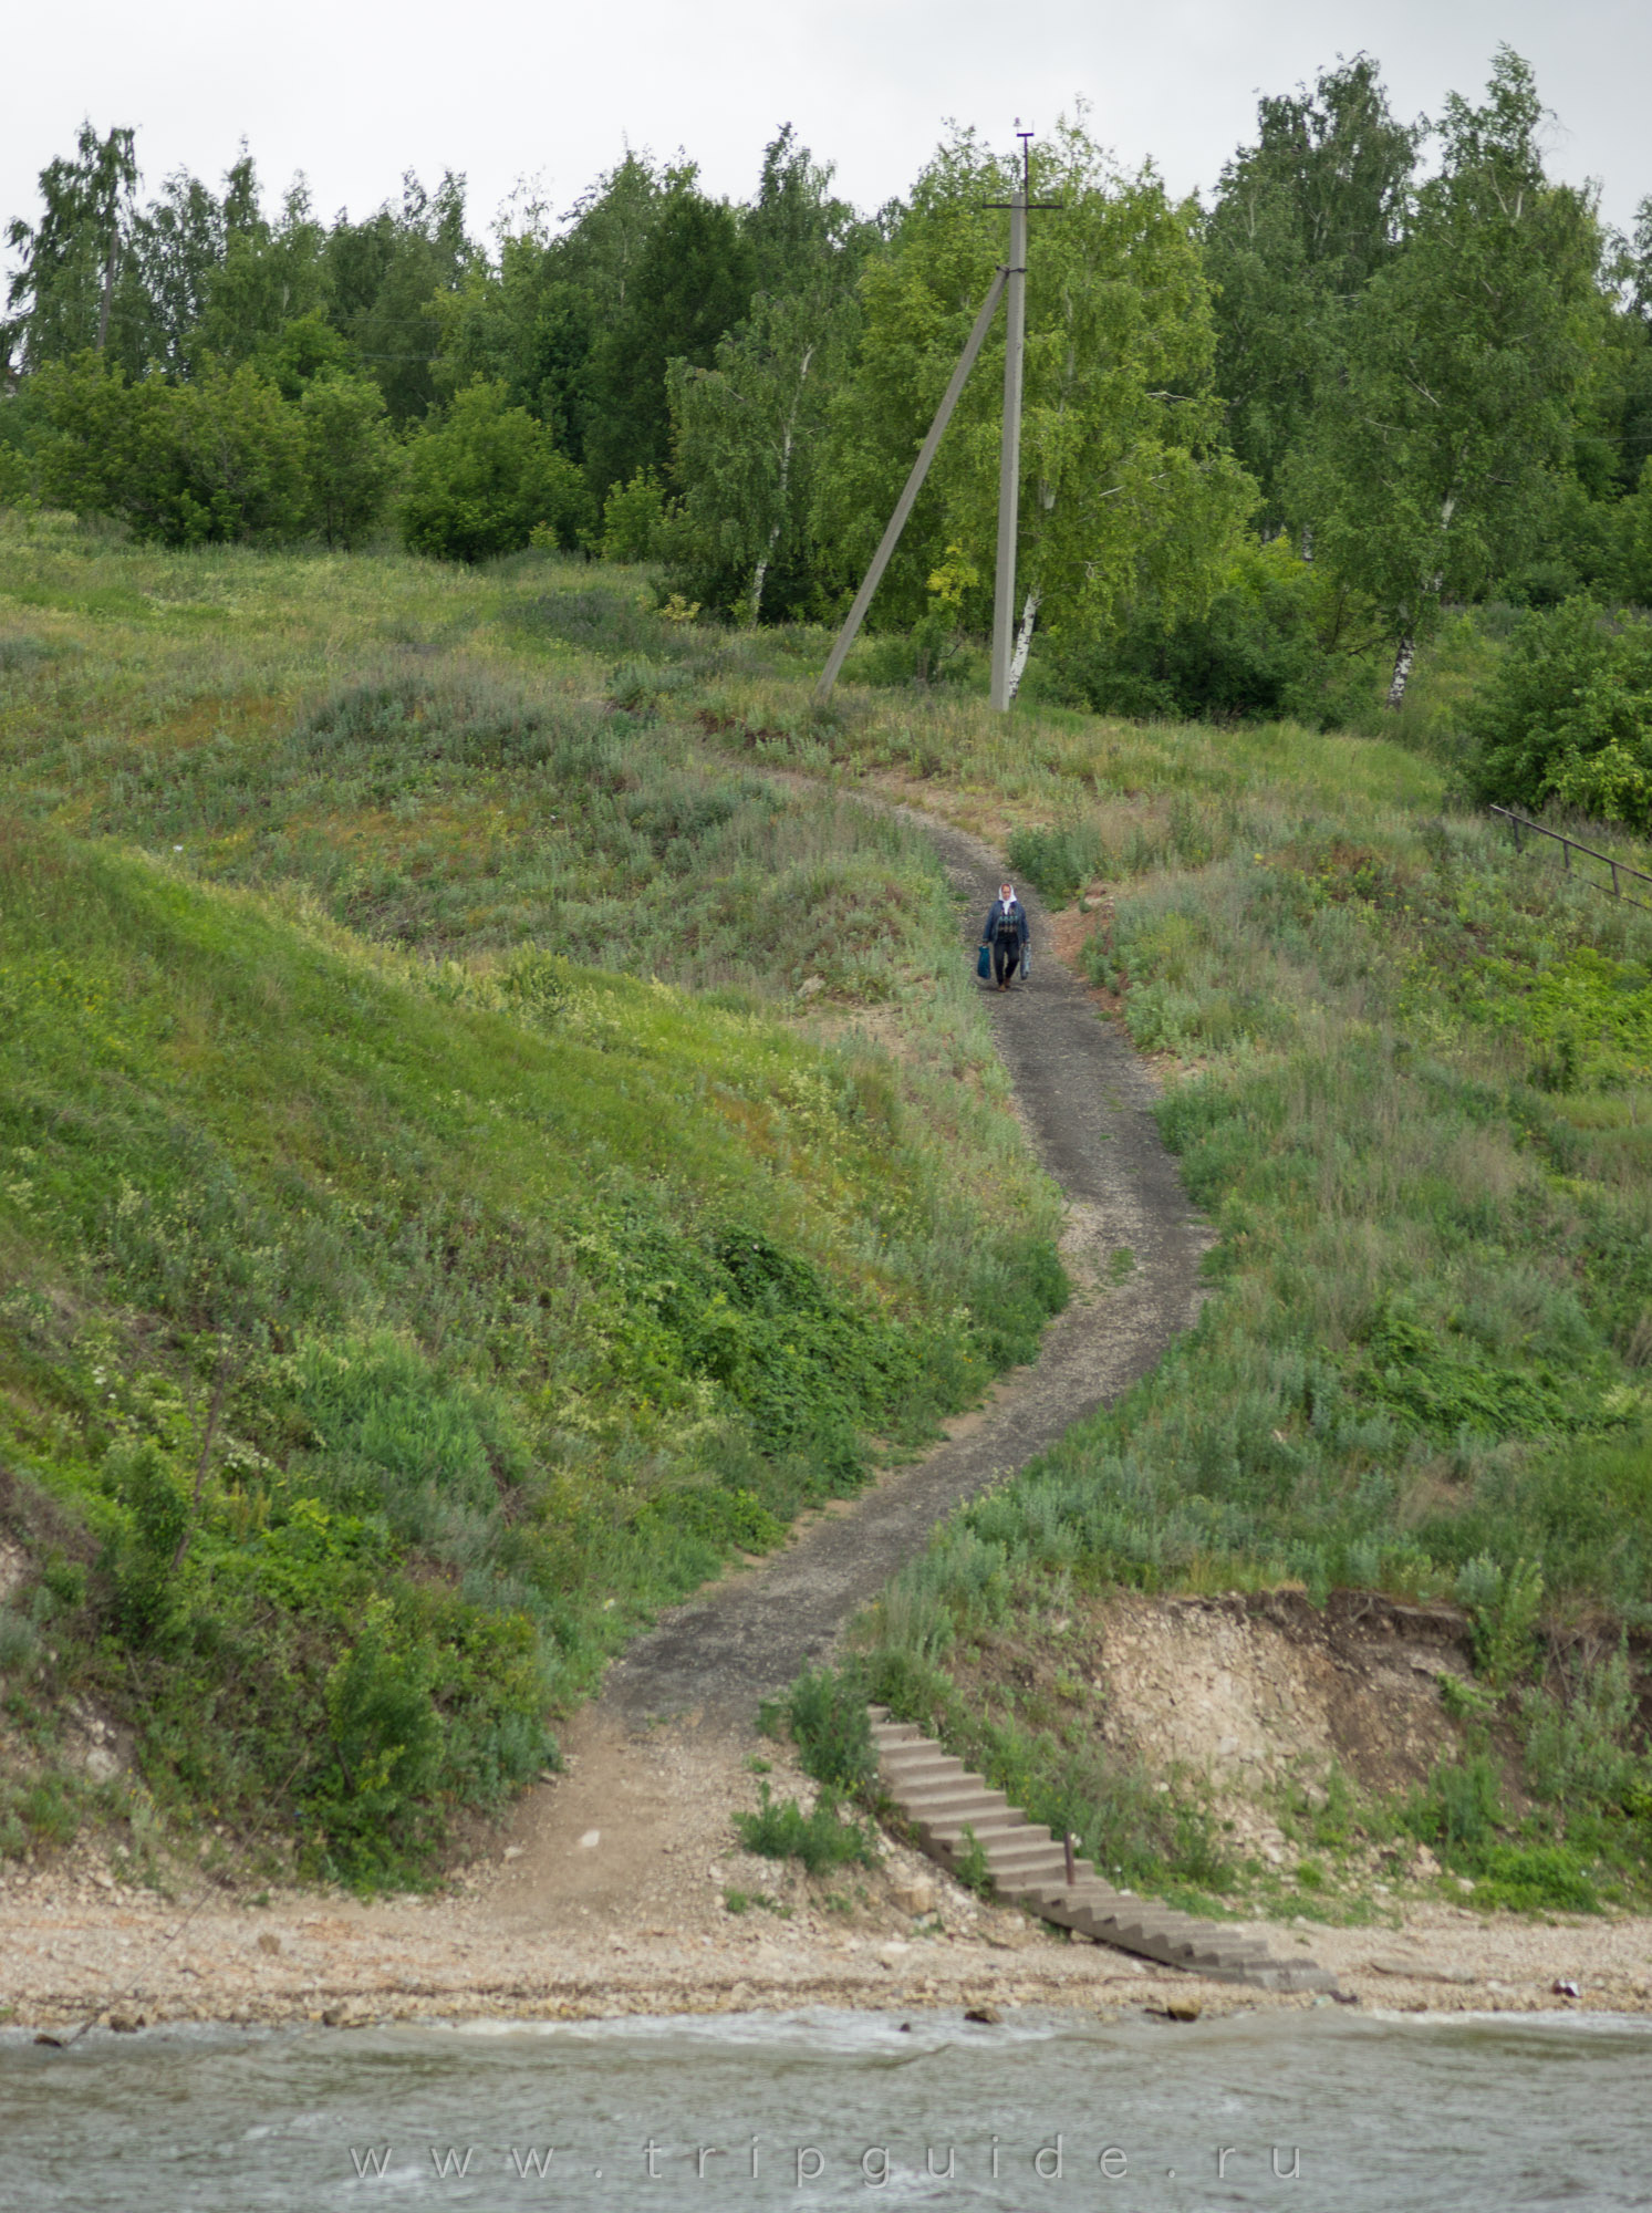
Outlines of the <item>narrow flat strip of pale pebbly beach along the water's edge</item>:
[[[757,1921],[760,1925],[748,1925]],[[485,1897],[361,1905],[288,1897],[268,1908],[188,1912],[142,1899],[7,1897],[0,1905],[0,2018],[62,2034],[86,2020],[361,2027],[392,2020],[582,2020],[808,2005],[1085,2014],[1198,2005],[1202,2014],[1311,2007],[1154,1970],[1101,1945],[1065,1943],[1019,1914],[946,1919],[906,1934],[837,1934],[813,1914],[724,1914],[724,1928],[498,1928]],[[1253,1923],[1289,1954],[1302,1930]],[[1417,1908],[1404,1925],[1313,1928],[1302,1956],[1338,1974],[1344,2001],[1391,2012],[1652,2012],[1652,1921],[1479,1921]],[[1559,1987],[1557,1987],[1559,1985]],[[1566,1985],[1577,1987],[1572,1996]]]

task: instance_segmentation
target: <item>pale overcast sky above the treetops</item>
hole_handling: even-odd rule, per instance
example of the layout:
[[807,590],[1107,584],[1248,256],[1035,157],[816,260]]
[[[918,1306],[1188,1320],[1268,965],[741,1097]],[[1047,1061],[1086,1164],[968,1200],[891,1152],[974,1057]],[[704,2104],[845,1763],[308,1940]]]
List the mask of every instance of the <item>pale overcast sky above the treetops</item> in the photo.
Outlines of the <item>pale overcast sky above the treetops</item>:
[[323,215],[370,212],[405,168],[463,170],[483,230],[523,177],[567,208],[627,142],[686,148],[709,190],[746,197],[786,120],[870,208],[946,117],[1005,142],[1081,95],[1125,164],[1183,193],[1253,137],[1258,93],[1338,53],[1373,53],[1411,117],[1477,95],[1499,42],[1555,111],[1550,173],[1597,177],[1628,226],[1652,193],[1648,0],[80,0],[11,15],[0,219],[33,219],[82,117],[137,128],[151,188],[217,179],[246,137],[266,188],[303,170]]

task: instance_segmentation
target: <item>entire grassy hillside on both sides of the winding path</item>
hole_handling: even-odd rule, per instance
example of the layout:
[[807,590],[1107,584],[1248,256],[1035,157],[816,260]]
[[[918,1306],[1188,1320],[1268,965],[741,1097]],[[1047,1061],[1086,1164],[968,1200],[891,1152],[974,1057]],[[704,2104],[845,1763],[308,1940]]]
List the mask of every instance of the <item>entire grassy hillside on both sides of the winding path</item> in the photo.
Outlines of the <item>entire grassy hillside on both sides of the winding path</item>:
[[[177,1720],[206,1711],[217,1631],[144,1613],[175,1527],[195,1531],[184,1582],[213,1607],[241,1593],[246,1560],[303,1549],[281,1585],[303,1622],[321,1618],[303,1611],[312,1558],[381,1547],[372,1567],[326,1565],[343,1580],[292,1726],[323,1713],[330,1748],[281,1799],[350,1863],[352,1744],[392,1742],[419,1700],[450,1722],[467,1695],[485,1706],[496,1744],[421,1781],[401,1830],[419,1839],[443,1797],[478,1801],[538,1757],[547,1684],[571,1695],[662,1593],[853,1480],[868,1427],[917,1434],[1032,1341],[1054,1297],[1047,1202],[1008,1118],[979,1113],[1001,1078],[950,901],[921,843],[855,806],[868,781],[1001,837],[1065,905],[1098,1014],[1163,1069],[1165,1135],[1220,1237],[1198,1330],[937,1536],[868,1624],[855,1686],[941,1724],[1140,1883],[1262,1881],[1289,1910],[1340,1910],[1357,1854],[1404,1835],[1486,1901],[1645,1892],[1652,916],[1453,808],[1455,702],[1495,640],[1448,635],[1395,744],[1005,721],[870,684],[822,710],[817,635],[673,622],[644,578],[540,558],[481,575],[162,558],[42,524],[0,573],[20,586],[0,648],[16,850],[78,885],[69,943],[113,916],[86,960],[117,963],[84,1002],[73,963],[31,991],[131,1056],[115,1076],[62,1047],[64,1104],[7,1171],[4,1235],[33,1270],[33,1303],[7,1308],[7,1465],[42,1494],[33,1523],[9,1514],[35,1560],[62,1551],[7,1635],[35,1666],[47,1638],[64,1649],[60,1620],[80,1624],[84,1680],[126,1700],[182,1801],[235,1799],[197,1739],[221,1757],[239,1735]],[[306,1007],[292,1060],[277,1067],[288,1031],[246,996],[266,956],[215,969],[190,949],[140,974],[151,914],[190,945],[281,945],[281,974],[326,967],[308,998],[283,983],[268,1000]],[[60,954],[27,958],[51,978]],[[159,989],[144,976],[175,1005],[120,1045]],[[407,1014],[357,1014],[392,1005]],[[339,1060],[359,1022],[350,1082],[370,1073],[399,1102],[370,1113]],[[396,1060],[414,1036],[434,1058]],[[31,1056],[44,1082],[44,1047]],[[71,1146],[115,1098],[137,1113],[133,1069],[144,1135],[47,1173],[42,1137]],[[197,1087],[184,1109],[166,1104],[179,1071]],[[379,1122],[401,1131],[383,1151],[363,1137]],[[208,1140],[233,1155],[235,1199],[202,1199],[199,1233],[195,1213],[159,1228]],[[128,1168],[137,1199],[117,1175],[84,1182],[73,1233],[47,1235],[104,1153],[179,1166],[153,1186]],[[288,1208],[279,1235],[268,1208]],[[208,1230],[202,1268],[190,1239]],[[257,1306],[270,1250],[297,1255],[290,1326]],[[190,1319],[190,1281],[241,1303]],[[120,1396],[151,1368],[146,1405],[171,1414]],[[410,1403],[441,1410],[445,1443],[410,1445]],[[53,1498],[71,1498],[55,1538]],[[219,1549],[241,1565],[219,1571]],[[1333,1872],[1313,1894],[1236,1870],[1191,1788],[1103,1773],[1067,1664],[1118,1585],[1278,1582],[1457,1600],[1481,1671],[1459,1757],[1404,1806],[1349,1812],[1320,1779],[1340,1812],[1315,1830]],[[359,1633],[379,1585],[392,1613]],[[527,1640],[520,1673],[494,1655],[463,1689],[425,1684],[463,1640],[421,1607],[474,1607],[489,1635]],[[244,1651],[270,1615],[248,1620]],[[226,1662],[210,1680],[233,1677]],[[259,1759],[248,1808],[281,1781],[279,1746]]]

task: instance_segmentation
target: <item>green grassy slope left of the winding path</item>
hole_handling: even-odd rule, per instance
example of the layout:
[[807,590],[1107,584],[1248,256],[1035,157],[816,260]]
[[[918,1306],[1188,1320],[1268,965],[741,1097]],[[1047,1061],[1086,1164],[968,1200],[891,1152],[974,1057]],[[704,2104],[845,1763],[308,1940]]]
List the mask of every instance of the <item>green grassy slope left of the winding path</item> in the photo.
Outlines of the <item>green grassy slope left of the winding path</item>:
[[0,1846],[71,1832],[86,1693],[168,1808],[407,1870],[1028,1354],[1047,1188],[957,1144],[926,848],[602,713],[498,622],[543,564],[0,551]]

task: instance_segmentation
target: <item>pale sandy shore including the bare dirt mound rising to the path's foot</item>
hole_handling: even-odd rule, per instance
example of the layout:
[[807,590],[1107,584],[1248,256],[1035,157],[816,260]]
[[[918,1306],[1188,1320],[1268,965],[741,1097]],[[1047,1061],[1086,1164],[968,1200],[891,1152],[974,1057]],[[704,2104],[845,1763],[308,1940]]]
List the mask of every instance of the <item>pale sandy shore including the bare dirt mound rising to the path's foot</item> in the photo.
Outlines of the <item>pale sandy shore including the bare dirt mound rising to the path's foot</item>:
[[[567,1770],[427,1897],[228,1888],[184,1866],[157,1897],[82,1843],[0,1872],[0,2027],[1333,2003],[1070,1943],[897,1839],[884,1839],[877,1868],[810,1881],[733,1839],[731,1808],[753,1804],[760,1779],[779,1797],[813,1788],[788,1746],[755,1733],[680,1726],[638,1739],[587,1711]],[[1362,1928],[1231,1925],[1264,1936],[1276,1959],[1331,1967],[1360,2007],[1652,2012],[1652,1916],[1521,1919],[1411,1897]]]

